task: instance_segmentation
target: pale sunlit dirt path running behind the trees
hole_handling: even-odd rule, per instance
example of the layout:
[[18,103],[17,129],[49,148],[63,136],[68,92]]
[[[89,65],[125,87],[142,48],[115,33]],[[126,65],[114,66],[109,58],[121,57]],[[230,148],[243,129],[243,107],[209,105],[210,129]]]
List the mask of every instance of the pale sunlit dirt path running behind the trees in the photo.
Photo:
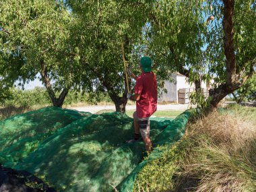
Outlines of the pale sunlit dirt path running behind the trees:
[[[190,108],[190,104],[158,104],[158,110],[187,110]],[[135,110],[136,106],[127,105],[126,110]],[[70,107],[69,109],[75,109],[79,111],[86,111],[90,113],[97,113],[100,110],[115,110],[115,105],[89,105],[89,106],[77,106]]]

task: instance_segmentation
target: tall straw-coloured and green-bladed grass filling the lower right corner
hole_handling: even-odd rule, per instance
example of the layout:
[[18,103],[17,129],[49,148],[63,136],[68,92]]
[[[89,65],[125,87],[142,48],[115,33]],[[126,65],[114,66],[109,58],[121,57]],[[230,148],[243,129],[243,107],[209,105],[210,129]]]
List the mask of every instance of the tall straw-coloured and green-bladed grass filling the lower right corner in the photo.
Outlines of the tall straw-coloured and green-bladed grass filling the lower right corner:
[[180,172],[197,178],[193,191],[256,191],[256,129],[251,117],[239,113],[210,113],[189,124],[187,150]]

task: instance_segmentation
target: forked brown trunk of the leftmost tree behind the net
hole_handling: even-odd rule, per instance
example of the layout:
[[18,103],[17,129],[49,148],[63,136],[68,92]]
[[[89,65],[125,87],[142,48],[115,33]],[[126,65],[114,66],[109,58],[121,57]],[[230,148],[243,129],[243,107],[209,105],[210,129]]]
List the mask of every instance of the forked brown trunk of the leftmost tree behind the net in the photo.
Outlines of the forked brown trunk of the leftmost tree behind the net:
[[63,102],[64,102],[64,100],[65,100],[65,98],[66,98],[66,96],[69,92],[69,89],[63,88],[61,94],[59,95],[59,98],[57,98],[53,88],[51,87],[50,79],[49,79],[49,76],[47,74],[47,69],[46,69],[46,66],[45,66],[43,60],[40,61],[40,66],[41,66],[40,74],[42,76],[42,80],[43,80],[44,86],[46,87],[46,90],[49,94],[49,97],[51,98],[53,106],[57,106],[57,107],[62,108]]

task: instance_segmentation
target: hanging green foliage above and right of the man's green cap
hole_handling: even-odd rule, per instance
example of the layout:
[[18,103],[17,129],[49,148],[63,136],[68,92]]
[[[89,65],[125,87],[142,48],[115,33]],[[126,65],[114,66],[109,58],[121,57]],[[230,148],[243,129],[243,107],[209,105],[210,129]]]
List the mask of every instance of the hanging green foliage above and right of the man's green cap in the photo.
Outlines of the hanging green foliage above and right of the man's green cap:
[[192,82],[198,78],[194,71],[204,71],[199,65],[205,31],[202,14],[203,1],[154,1],[144,43],[161,77],[190,68]]

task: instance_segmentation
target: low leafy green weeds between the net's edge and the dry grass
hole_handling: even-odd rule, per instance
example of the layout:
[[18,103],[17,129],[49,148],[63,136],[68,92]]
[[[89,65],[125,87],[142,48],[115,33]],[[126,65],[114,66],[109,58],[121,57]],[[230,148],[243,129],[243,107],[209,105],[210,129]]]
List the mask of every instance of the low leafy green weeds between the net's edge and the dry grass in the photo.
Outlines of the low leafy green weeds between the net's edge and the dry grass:
[[177,172],[181,170],[181,162],[185,161],[187,148],[193,143],[181,140],[170,146],[162,147],[162,156],[144,166],[139,172],[133,191],[167,191],[176,189]]

